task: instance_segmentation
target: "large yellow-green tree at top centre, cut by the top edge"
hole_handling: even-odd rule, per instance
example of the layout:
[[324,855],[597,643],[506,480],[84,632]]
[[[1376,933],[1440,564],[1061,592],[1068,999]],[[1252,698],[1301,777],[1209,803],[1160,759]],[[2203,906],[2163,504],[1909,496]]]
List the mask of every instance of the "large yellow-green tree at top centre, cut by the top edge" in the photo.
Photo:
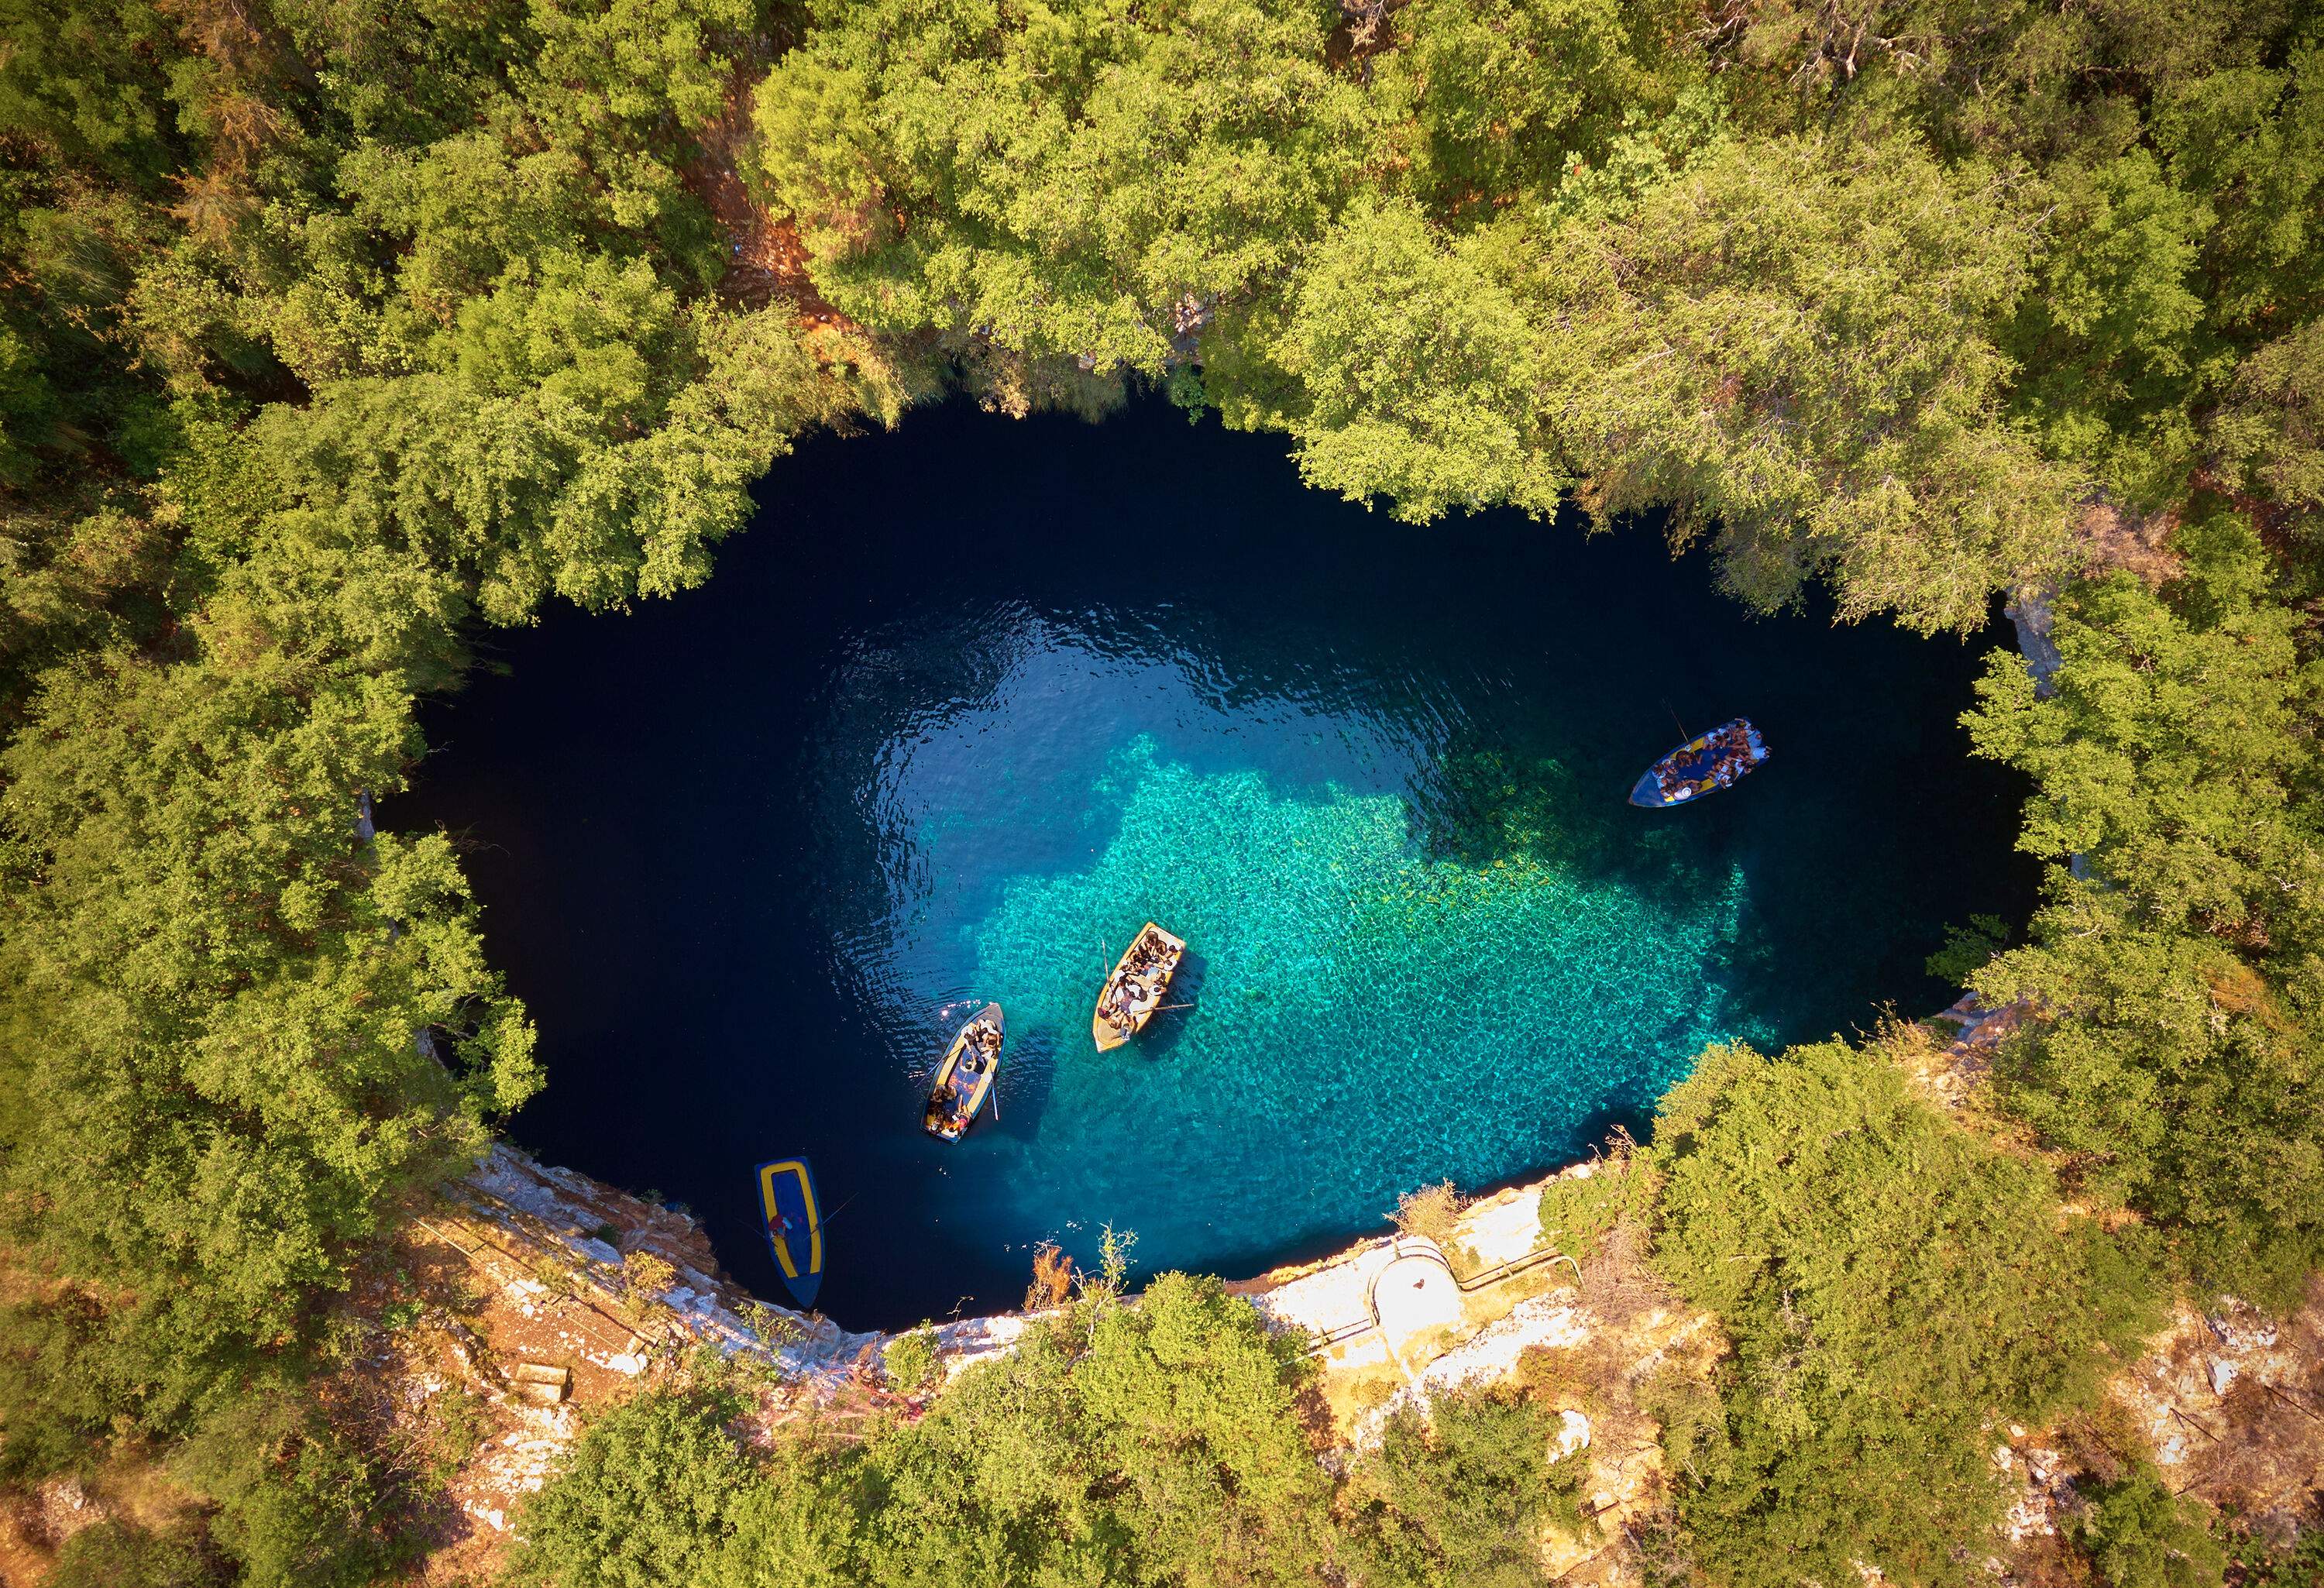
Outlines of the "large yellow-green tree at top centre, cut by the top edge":
[[760,181],[865,326],[1160,372],[1274,291],[1364,167],[1373,114],[1322,60],[1327,16],[832,7],[758,91]]

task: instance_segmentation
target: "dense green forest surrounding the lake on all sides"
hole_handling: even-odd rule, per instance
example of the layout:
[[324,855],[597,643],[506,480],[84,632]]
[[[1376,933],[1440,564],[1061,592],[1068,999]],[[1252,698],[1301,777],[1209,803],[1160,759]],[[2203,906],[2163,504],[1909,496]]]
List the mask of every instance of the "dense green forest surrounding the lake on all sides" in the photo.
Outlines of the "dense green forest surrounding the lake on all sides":
[[[2027,1011],[1992,1128],[1887,1039],[1717,1049],[1592,1216],[1729,1339],[1662,1409],[1664,1581],[1968,1576],[1980,1430],[2324,1262],[2308,7],[0,0],[0,1481],[198,1500],[56,1581],[411,1569],[428,1472],[311,1386],[544,1076],[453,846],[370,802],[490,625],[700,584],[792,437],[946,393],[1160,391],[1411,523],[1664,509],[1762,609],[2047,621],[1966,718],[2050,867],[1941,956]],[[734,1444],[704,1362],[514,1569],[1541,1581],[1522,1388],[1332,1474],[1301,1372],[1197,1279],[865,1446]],[[2082,1581],[2219,1581],[2117,1467]]]

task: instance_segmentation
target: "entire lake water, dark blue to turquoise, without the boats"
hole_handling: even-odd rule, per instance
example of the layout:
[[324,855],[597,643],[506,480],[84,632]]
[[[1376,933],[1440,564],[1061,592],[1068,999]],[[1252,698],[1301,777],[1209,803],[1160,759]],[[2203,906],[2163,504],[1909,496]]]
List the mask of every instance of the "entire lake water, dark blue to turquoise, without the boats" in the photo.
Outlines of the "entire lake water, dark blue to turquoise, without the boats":
[[[751,1163],[823,1181],[823,1307],[1013,1304],[1032,1246],[1255,1272],[1643,1128],[1703,1042],[1950,1000],[2022,911],[2022,788],[1954,716],[1996,642],[1748,618],[1650,530],[1429,530],[1274,439],[916,414],[774,467],[709,588],[493,637],[390,818],[472,842],[546,1158],[688,1202],[776,1297]],[[1750,714],[1680,811],[1638,770]],[[1146,918],[1178,997],[1099,1056]],[[918,1130],[985,1000],[999,1118]]]

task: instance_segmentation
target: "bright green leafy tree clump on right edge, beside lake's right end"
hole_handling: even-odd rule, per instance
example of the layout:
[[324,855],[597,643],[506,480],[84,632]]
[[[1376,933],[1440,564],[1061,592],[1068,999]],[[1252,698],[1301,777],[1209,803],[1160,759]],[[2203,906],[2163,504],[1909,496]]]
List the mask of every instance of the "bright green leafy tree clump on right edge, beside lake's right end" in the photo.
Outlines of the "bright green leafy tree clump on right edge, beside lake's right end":
[[2171,595],[2117,574],[2059,605],[2052,698],[2015,665],[1978,686],[1978,751],[2038,784],[2022,846],[2082,860],[1975,986],[2043,1016],[2003,1053],[2008,1104],[2196,1279],[2287,1300],[2324,1256],[2324,672],[2247,525],[2208,514],[2180,551]]

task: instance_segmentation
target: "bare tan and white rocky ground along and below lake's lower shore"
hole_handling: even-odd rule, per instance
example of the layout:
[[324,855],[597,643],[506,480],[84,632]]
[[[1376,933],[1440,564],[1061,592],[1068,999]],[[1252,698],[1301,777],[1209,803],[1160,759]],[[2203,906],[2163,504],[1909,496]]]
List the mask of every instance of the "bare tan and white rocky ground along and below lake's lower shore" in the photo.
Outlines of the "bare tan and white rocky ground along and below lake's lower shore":
[[[1961,997],[1929,1016],[1943,1037],[1906,1070],[1908,1081],[1938,1109],[1971,1111],[1992,1049],[2020,1014]],[[1636,1239],[1552,1256],[1541,1232],[1543,1188],[1624,1172],[1622,1156],[1571,1163],[1464,1202],[1441,1244],[1380,1232],[1222,1279],[1222,1290],[1250,1302],[1271,1330],[1308,1337],[1318,1460],[1348,1460],[1399,1407],[1427,1409],[1443,1390],[1534,1372],[1527,1362],[1562,1362],[1571,1404],[1559,1402],[1559,1451],[1587,1451],[1585,1514],[1599,1528],[1597,1541],[1552,1541],[1557,1569],[1587,1562],[1608,1535],[1645,1516],[1664,1479],[1659,1425],[1636,1386],[1666,1372],[1708,1383],[1727,1339],[1713,1314],[1655,1276]],[[449,1186],[407,1239],[456,1249],[486,1297],[474,1328],[449,1328],[442,1353],[414,1374],[416,1397],[465,1383],[495,1407],[500,1432],[453,1483],[472,1525],[460,1551],[476,1558],[504,1546],[525,1495],[558,1469],[588,1416],[672,1374],[700,1372],[704,1349],[753,1386],[753,1439],[802,1421],[862,1437],[851,1430],[925,1416],[944,1383],[1013,1351],[1055,1316],[1002,1309],[932,1325],[939,1374],[902,1388],[888,1379],[885,1349],[913,1330],[848,1330],[769,1304],[718,1267],[690,1214],[504,1144]],[[2164,1330],[2119,1362],[2108,1395],[2173,1486],[2233,1486],[2243,1481],[2238,1462],[2254,1451],[2305,1435],[2271,1395],[2301,1381],[2319,1344],[2324,1279],[2280,1323],[2240,1302],[2196,1309],[2180,1300]],[[537,1397],[541,1367],[567,1376]],[[2189,1437],[2189,1425],[2208,1439]],[[2071,1442],[2047,1428],[1994,1432],[1994,1465],[2010,1483],[1999,1539],[2020,1546],[2071,1528],[2082,1504]],[[2271,1490],[2273,1502],[2289,1504]]]

